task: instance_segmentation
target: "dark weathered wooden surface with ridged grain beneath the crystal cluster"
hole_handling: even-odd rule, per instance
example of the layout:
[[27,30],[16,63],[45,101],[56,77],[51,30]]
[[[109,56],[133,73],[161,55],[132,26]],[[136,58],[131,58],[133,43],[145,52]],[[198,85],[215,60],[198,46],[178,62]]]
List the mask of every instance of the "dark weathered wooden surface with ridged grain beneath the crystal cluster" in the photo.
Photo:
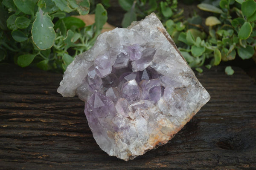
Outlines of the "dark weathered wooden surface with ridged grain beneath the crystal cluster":
[[256,169],[256,85],[239,68],[197,77],[211,100],[168,144],[126,162],[96,144],[84,103],[56,92],[61,74],[0,65],[0,169]]

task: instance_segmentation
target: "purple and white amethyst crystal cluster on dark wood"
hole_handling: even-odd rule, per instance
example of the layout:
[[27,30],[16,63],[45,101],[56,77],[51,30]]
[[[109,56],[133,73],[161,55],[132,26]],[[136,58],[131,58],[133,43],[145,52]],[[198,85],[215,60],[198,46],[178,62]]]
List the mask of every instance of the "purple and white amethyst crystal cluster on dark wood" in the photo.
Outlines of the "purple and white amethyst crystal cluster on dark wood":
[[99,35],[58,92],[86,101],[97,144],[125,161],[166,144],[210,99],[154,13]]

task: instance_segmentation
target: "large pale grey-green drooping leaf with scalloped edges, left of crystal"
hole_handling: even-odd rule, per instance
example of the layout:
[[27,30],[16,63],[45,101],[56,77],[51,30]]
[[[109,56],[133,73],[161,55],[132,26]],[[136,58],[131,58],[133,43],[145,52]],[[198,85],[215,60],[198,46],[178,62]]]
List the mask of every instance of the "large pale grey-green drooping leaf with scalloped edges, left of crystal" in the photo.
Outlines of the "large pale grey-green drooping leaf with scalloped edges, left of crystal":
[[32,40],[35,45],[41,49],[49,49],[52,47],[56,34],[53,29],[54,24],[51,17],[40,9],[35,15],[35,21],[32,26]]

